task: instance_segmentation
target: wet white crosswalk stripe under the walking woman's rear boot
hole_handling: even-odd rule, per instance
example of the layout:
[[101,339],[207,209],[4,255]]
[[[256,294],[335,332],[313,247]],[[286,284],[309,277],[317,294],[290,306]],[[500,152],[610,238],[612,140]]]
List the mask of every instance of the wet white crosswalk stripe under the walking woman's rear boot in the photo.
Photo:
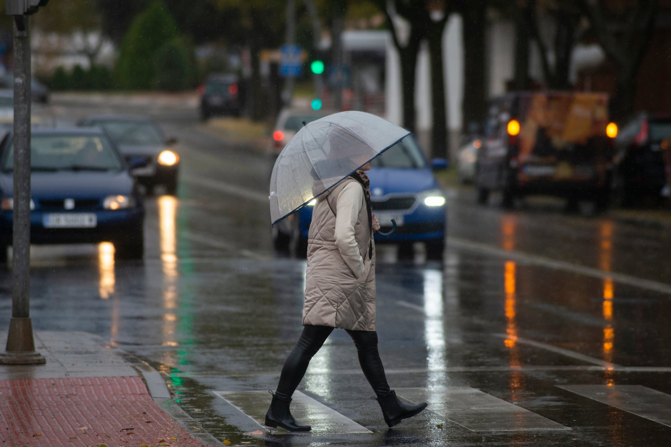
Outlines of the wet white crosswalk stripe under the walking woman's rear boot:
[[[240,411],[249,416],[251,420],[265,427],[266,411],[270,405],[270,394],[268,391],[214,391],[215,395],[221,397]],[[301,424],[312,427],[312,434],[352,434],[372,433],[367,428],[360,426],[350,418],[343,416],[334,409],[316,401],[312,397],[295,391],[291,401],[291,414]],[[287,434],[282,428],[277,434]]]

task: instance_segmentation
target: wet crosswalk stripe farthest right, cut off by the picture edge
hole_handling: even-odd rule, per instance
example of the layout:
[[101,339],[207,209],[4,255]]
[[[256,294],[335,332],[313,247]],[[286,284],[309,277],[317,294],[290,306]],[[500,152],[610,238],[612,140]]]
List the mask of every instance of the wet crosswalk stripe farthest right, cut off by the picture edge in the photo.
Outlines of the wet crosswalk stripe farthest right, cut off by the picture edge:
[[556,385],[671,427],[671,395],[642,385]]

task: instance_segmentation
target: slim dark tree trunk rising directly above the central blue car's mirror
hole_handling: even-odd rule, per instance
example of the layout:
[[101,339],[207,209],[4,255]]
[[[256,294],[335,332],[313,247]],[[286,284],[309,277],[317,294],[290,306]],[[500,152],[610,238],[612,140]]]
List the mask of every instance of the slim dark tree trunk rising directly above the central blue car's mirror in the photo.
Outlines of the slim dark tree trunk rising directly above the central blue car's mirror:
[[433,158],[448,158],[447,109],[445,104],[445,76],[443,72],[443,30],[446,19],[429,25],[429,55],[431,57],[431,112],[433,129],[431,146]]

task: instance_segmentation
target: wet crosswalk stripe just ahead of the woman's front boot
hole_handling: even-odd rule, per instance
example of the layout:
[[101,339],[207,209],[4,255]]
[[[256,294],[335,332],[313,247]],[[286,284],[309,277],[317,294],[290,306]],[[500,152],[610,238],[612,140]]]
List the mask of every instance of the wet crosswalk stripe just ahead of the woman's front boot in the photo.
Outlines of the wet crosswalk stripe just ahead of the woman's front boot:
[[396,393],[414,403],[427,402],[427,409],[472,432],[570,430],[528,409],[471,387],[397,388]]

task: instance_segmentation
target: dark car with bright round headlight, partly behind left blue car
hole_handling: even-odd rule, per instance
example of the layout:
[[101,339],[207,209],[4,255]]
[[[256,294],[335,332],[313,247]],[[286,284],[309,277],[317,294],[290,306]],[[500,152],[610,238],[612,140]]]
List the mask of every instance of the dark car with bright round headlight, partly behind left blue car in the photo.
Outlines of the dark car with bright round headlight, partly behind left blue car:
[[152,192],[163,185],[166,194],[176,194],[179,155],[170,148],[176,139],[166,139],[158,124],[148,117],[127,115],[93,116],[80,122],[83,126],[99,126],[133,167],[132,174]]

